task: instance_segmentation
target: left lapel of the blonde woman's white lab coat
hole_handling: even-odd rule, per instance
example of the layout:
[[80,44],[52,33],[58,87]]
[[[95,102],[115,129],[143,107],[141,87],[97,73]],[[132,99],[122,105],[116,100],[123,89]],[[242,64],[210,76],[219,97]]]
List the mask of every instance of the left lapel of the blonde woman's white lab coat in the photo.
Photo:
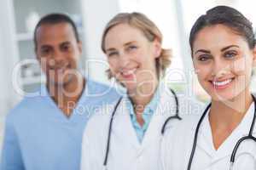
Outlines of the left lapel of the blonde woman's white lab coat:
[[130,143],[136,149],[140,146],[135,129],[131,124],[129,110],[123,98],[113,119],[113,135],[124,143]]

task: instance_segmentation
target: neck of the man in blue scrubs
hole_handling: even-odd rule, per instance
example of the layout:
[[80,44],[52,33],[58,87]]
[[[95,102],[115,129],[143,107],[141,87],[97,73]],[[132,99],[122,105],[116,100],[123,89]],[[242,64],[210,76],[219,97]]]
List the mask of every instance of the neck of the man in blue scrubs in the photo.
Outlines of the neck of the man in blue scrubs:
[[62,107],[75,105],[84,90],[84,77],[78,74],[73,80],[66,84],[47,82],[50,96],[55,100],[56,105]]

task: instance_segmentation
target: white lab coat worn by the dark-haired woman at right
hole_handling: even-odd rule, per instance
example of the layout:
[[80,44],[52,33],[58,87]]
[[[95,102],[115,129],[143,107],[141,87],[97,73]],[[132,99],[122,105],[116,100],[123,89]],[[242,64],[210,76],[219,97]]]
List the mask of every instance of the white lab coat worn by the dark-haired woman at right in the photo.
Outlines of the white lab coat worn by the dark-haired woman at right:
[[[202,113],[201,113],[202,114]],[[189,156],[195,136],[195,128],[200,115],[187,116],[177,127],[166,132],[161,144],[161,161],[163,170],[187,170]],[[224,114],[224,113],[223,113]],[[254,103],[250,106],[247,114],[238,127],[230,134],[228,139],[215,150],[212,143],[212,131],[205,116],[198,133],[195,156],[191,170],[229,170],[230,156],[236,142],[249,133],[254,115]],[[256,127],[253,136],[256,136]],[[236,153],[234,170],[256,169],[256,143],[252,140],[241,143]]]

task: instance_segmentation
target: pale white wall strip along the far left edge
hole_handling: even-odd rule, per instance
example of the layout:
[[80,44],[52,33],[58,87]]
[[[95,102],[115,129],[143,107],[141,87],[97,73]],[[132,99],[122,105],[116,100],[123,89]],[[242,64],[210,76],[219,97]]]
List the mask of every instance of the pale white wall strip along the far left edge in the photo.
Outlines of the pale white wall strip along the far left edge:
[[15,23],[13,20],[13,4],[9,0],[1,0],[0,10],[0,146],[3,137],[4,116],[17,102],[17,94],[12,87],[12,69],[16,63],[17,46],[15,44]]

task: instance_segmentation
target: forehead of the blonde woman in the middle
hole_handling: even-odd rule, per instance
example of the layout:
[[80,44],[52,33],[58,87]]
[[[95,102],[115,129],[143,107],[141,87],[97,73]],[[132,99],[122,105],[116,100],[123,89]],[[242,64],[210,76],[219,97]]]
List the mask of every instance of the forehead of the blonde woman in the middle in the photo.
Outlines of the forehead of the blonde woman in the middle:
[[143,31],[137,27],[128,24],[119,24],[110,28],[105,37],[104,45],[107,49],[124,45],[127,42],[141,42],[145,40],[147,38],[144,36]]

